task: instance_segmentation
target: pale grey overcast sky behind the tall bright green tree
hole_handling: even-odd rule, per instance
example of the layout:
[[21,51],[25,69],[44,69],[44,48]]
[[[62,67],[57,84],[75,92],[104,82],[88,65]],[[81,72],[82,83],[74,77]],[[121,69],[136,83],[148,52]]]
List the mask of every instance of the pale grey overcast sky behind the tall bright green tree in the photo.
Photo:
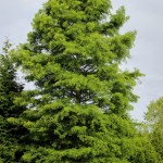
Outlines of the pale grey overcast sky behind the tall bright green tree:
[[[18,45],[26,40],[35,13],[46,0],[0,0],[0,48],[5,37]],[[146,74],[135,89],[140,97],[131,115],[143,120],[151,100],[163,96],[163,0],[113,0],[114,9],[125,5],[130,16],[122,33],[137,30],[135,47],[127,67]]]

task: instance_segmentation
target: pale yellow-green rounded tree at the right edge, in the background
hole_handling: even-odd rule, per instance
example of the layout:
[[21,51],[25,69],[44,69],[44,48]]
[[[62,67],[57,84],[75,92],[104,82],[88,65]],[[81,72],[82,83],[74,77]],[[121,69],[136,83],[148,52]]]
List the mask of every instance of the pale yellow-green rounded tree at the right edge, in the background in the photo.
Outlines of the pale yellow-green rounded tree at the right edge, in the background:
[[146,113],[149,139],[163,160],[163,98],[152,101]]

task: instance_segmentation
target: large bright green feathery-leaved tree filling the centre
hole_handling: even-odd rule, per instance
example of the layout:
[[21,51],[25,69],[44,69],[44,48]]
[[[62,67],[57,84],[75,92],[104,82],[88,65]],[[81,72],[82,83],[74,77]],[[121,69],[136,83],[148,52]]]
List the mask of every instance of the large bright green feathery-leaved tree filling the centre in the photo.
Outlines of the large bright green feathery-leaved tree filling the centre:
[[29,131],[22,162],[129,162],[135,153],[128,116],[138,71],[122,71],[136,32],[120,34],[125,9],[110,0],[49,0],[28,41],[12,54],[35,90],[16,102]]

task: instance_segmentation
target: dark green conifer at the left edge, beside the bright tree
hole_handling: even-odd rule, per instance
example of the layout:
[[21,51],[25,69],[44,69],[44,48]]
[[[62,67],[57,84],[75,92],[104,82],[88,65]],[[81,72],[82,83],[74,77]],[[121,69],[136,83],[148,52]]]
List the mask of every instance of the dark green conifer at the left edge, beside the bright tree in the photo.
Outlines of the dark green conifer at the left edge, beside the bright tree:
[[0,54],[0,162],[16,161],[17,141],[23,129],[8,122],[10,117],[18,117],[24,111],[14,104],[14,100],[23,90],[23,85],[16,82],[16,70],[9,57],[11,43],[4,42],[3,54]]

